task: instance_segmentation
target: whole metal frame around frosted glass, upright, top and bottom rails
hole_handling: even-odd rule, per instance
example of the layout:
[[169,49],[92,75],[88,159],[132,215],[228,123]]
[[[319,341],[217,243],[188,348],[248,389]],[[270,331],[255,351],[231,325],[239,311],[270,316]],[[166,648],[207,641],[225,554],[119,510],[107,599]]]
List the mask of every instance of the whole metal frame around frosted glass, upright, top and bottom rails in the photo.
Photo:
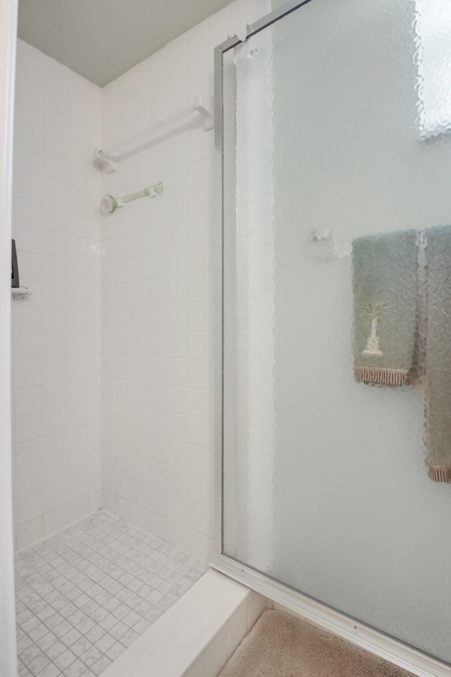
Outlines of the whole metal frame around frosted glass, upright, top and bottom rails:
[[[313,0],[289,0],[252,24],[247,38]],[[391,661],[419,677],[451,677],[451,666],[366,626],[326,604],[293,590],[259,571],[223,554],[223,54],[242,40],[236,35],[214,51],[215,116],[215,554],[211,566],[239,583],[263,594],[295,614],[330,630],[377,656]]]

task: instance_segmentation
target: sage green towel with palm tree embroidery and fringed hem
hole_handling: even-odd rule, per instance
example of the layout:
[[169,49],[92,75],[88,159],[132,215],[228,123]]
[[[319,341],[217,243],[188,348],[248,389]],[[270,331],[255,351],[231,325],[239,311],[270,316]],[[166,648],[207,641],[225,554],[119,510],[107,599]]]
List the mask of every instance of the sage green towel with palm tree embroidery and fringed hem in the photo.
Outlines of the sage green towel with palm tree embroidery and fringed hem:
[[409,384],[416,328],[416,231],[352,243],[356,381]]

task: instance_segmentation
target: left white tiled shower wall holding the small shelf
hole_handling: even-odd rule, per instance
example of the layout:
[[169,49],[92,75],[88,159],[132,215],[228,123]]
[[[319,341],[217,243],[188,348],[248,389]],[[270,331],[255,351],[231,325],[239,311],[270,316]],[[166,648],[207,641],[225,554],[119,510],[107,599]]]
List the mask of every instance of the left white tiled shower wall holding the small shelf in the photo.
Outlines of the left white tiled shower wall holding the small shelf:
[[16,547],[100,505],[101,90],[18,40],[13,237]]

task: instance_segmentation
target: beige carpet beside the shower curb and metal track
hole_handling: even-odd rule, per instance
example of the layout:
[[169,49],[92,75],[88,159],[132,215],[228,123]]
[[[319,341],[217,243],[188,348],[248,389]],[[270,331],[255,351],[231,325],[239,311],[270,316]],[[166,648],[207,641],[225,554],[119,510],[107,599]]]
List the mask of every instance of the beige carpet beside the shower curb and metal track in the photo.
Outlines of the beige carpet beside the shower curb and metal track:
[[413,677],[282,611],[265,611],[219,677]]

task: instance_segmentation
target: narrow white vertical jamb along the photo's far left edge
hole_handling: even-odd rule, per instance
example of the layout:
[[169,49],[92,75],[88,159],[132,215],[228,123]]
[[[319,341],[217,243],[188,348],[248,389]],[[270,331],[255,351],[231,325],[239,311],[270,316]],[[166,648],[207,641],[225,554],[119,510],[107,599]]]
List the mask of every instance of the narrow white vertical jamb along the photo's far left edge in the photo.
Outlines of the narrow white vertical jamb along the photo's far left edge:
[[16,677],[11,485],[11,187],[17,1],[0,0],[0,673]]

